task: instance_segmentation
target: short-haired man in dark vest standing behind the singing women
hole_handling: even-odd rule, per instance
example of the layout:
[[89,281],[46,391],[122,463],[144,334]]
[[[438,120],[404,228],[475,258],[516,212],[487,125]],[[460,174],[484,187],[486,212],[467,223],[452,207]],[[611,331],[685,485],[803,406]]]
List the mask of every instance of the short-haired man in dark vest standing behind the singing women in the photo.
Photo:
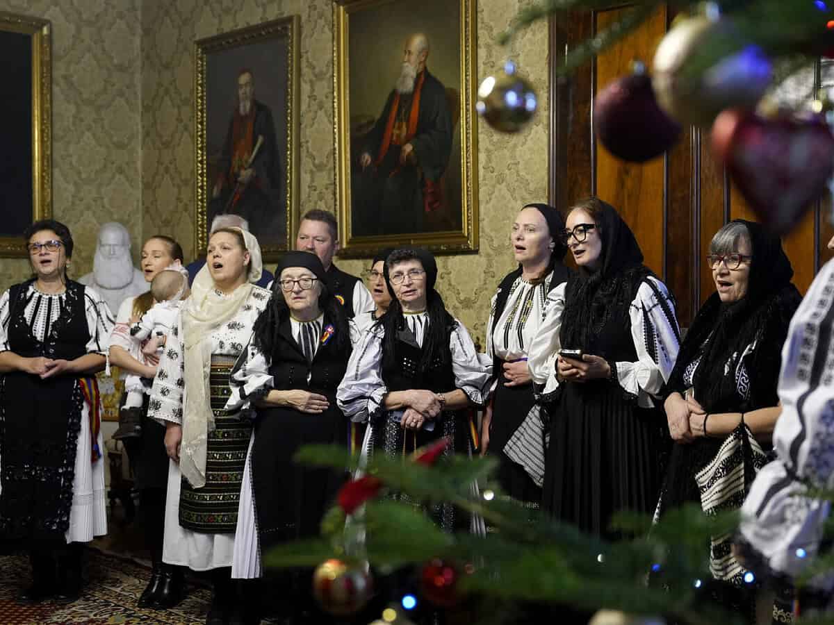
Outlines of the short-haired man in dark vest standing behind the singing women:
[[304,213],[299,235],[295,238],[295,249],[319,257],[326,272],[327,287],[344,306],[349,318],[374,310],[374,300],[362,281],[333,264],[333,256],[339,251],[339,228],[333,213],[319,208]]

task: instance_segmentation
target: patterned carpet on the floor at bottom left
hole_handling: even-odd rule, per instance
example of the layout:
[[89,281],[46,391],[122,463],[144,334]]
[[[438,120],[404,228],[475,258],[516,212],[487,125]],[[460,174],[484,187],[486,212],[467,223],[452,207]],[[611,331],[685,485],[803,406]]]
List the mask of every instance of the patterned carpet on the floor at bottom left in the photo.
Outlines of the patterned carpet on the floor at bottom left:
[[208,587],[188,584],[188,597],[170,610],[143,610],[136,607],[139,594],[148,582],[148,567],[133,560],[88,549],[85,551],[83,595],[66,606],[43,603],[18,606],[15,595],[29,583],[28,557],[23,553],[0,556],[0,623],[3,625],[132,625],[161,623],[192,625],[205,622],[211,592]]

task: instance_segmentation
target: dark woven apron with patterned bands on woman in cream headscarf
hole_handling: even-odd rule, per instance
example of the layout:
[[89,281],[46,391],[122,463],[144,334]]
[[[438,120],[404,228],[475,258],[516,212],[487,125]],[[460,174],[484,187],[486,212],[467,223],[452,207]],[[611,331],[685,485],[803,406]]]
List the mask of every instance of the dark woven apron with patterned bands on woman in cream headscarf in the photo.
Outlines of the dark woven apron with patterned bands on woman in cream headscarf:
[[179,524],[192,532],[233,533],[238,523],[240,483],[244,478],[252,423],[227,415],[229,374],[234,357],[213,356],[209,374],[214,431],[208,433],[206,483],[192,488],[183,478]]

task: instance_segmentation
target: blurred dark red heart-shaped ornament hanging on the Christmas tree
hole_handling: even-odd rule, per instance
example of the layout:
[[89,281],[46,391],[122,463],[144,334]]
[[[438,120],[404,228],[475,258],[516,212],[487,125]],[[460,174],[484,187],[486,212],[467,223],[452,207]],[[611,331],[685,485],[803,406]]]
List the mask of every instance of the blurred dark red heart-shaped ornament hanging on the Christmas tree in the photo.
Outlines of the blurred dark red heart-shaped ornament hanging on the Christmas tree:
[[716,119],[712,144],[733,183],[777,234],[796,226],[834,173],[834,137],[817,119],[728,111]]

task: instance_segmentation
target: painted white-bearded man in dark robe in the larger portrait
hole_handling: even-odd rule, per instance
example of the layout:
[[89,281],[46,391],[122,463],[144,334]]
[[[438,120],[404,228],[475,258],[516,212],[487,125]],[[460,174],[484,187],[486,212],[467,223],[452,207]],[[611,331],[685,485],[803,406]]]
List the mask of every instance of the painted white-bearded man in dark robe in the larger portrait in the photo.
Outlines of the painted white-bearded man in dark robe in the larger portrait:
[[420,233],[426,213],[442,206],[440,177],[449,164],[452,117],[443,83],[426,68],[428,57],[428,37],[411,35],[394,89],[364,138],[356,234]]

